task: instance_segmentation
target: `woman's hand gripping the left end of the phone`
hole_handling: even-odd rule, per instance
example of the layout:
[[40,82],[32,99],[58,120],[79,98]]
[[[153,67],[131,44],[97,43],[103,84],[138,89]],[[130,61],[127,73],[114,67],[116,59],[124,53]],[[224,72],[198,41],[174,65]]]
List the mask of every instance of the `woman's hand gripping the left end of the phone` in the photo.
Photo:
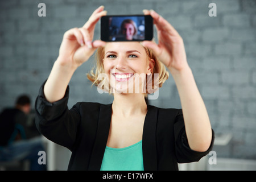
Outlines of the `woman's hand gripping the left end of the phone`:
[[104,6],[100,6],[93,12],[83,27],[72,28],[65,32],[57,59],[61,65],[76,69],[87,61],[98,47],[105,46],[105,42],[101,40],[95,40],[94,42],[92,40],[96,23],[106,13]]

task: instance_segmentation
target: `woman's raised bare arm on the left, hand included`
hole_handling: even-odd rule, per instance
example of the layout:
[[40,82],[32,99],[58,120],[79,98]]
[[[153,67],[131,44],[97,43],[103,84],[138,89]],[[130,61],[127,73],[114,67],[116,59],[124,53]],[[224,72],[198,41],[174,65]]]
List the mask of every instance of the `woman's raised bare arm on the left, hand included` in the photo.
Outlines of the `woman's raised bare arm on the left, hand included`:
[[87,61],[98,47],[105,45],[105,42],[101,40],[92,42],[96,23],[104,15],[106,15],[104,6],[100,6],[83,27],[72,28],[65,32],[59,56],[44,85],[44,96],[49,102],[55,102],[64,97],[65,90],[76,69]]

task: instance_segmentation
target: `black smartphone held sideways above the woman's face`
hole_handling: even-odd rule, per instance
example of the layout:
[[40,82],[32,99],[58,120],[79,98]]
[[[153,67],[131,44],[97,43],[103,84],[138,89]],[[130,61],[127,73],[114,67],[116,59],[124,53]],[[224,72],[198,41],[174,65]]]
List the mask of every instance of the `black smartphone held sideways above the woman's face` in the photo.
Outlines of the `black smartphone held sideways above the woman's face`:
[[153,38],[150,15],[108,15],[101,17],[101,40],[105,42],[143,41]]

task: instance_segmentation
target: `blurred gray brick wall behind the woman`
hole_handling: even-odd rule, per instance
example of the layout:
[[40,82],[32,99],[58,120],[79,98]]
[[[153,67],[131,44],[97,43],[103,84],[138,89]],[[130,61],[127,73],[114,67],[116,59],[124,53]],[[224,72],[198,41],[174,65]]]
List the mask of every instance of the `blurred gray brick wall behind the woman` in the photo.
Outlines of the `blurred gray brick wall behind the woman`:
[[[46,4],[46,17],[38,4]],[[217,16],[208,16],[208,5]],[[216,133],[232,133],[228,146],[215,146],[217,156],[256,159],[256,1],[255,0],[2,0],[0,1],[0,109],[14,104],[16,96],[30,94],[32,101],[49,75],[65,31],[80,27],[98,6],[108,14],[141,14],[154,9],[184,39],[188,63]],[[99,26],[96,27],[98,38]],[[77,101],[112,102],[98,94],[86,79],[93,57],[72,77],[69,107]],[[170,78],[150,104],[180,107]]]

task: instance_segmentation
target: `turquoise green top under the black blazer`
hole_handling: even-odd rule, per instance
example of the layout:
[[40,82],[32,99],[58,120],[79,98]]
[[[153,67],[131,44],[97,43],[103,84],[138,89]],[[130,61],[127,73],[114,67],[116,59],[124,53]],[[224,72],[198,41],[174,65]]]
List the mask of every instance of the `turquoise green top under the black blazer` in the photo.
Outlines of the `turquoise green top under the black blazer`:
[[101,171],[144,171],[142,140],[129,147],[106,147]]

